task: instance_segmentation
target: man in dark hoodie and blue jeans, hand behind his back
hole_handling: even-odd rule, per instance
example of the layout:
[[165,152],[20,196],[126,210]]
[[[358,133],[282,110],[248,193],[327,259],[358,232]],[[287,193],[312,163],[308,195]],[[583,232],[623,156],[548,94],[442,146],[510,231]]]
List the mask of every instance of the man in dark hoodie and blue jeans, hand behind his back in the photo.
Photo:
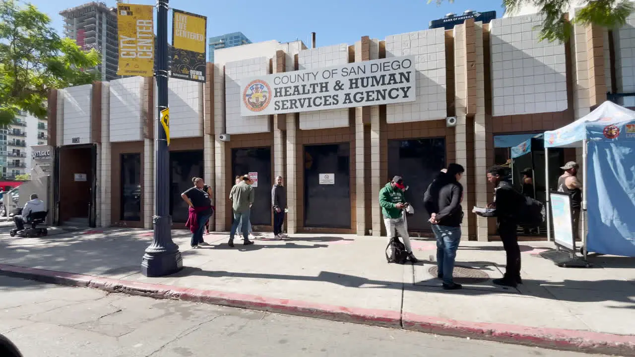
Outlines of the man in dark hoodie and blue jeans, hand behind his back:
[[461,240],[463,186],[458,181],[464,172],[463,166],[450,164],[432,181],[424,195],[424,207],[437,240],[438,278],[443,280],[445,290],[463,287],[453,281],[452,273]]

